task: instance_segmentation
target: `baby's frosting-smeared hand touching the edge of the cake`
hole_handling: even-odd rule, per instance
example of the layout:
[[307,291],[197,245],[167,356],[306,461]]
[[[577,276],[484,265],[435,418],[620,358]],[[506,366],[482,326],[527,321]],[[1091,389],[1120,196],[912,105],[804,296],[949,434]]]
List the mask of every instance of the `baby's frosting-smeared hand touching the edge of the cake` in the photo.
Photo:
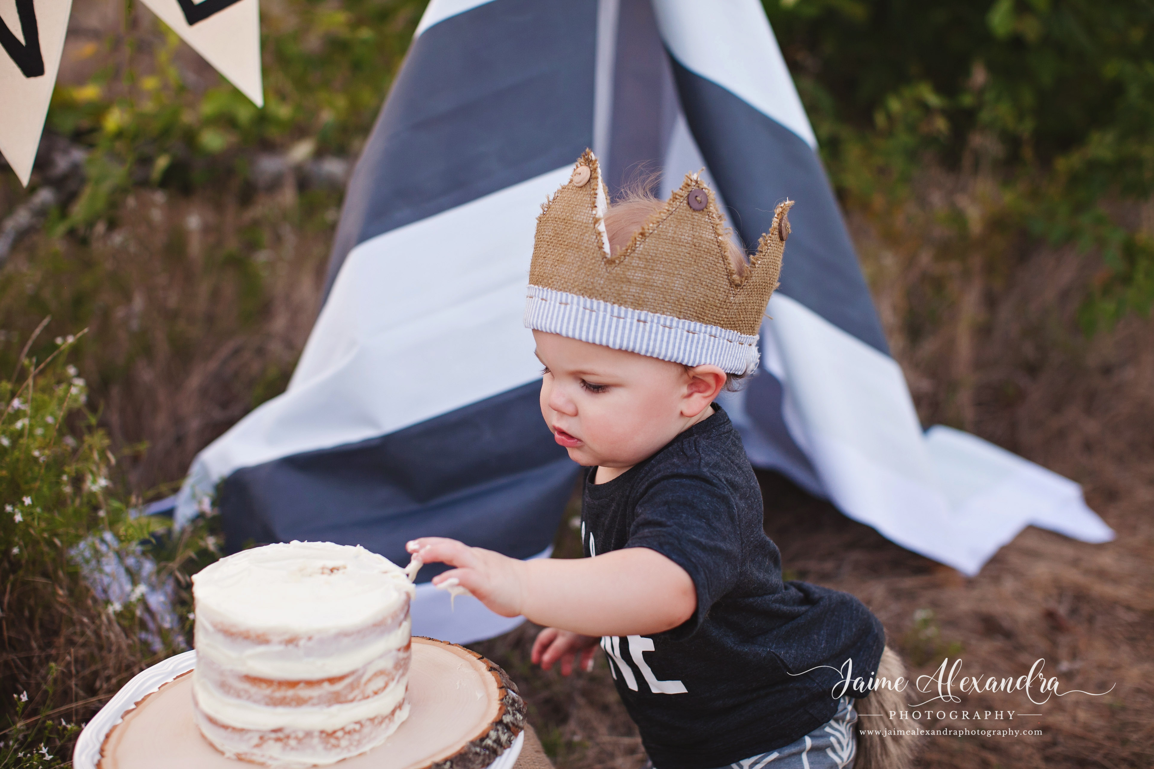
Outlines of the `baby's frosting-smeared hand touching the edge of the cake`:
[[434,576],[433,585],[456,579],[457,585],[502,617],[523,613],[523,561],[445,537],[421,537],[407,543],[405,549],[426,564],[443,563],[457,567]]

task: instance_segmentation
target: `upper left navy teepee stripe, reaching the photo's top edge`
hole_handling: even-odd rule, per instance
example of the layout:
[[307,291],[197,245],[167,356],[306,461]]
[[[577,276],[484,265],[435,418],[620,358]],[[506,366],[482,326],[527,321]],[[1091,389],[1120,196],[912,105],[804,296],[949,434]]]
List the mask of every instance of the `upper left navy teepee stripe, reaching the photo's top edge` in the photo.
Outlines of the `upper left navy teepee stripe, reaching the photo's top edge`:
[[357,243],[592,146],[595,42],[597,0],[494,0],[418,37],[349,183],[325,297]]

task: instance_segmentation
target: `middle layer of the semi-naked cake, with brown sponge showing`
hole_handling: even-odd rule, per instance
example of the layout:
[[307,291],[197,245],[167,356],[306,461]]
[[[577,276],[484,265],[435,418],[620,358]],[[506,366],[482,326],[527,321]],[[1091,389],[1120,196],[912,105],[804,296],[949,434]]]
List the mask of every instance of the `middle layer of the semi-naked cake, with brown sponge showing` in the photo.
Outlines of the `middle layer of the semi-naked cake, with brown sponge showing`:
[[409,671],[410,648],[387,651],[342,676],[309,680],[273,680],[238,672],[200,657],[196,676],[219,695],[273,707],[317,707],[376,696]]

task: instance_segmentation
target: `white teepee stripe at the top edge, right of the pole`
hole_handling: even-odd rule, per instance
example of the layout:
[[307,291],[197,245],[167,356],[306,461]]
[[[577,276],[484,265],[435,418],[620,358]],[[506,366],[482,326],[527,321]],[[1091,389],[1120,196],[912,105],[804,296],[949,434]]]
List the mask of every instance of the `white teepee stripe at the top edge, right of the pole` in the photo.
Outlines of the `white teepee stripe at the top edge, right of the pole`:
[[735,93],[817,149],[817,137],[757,0],[653,0],[661,39],[681,65]]

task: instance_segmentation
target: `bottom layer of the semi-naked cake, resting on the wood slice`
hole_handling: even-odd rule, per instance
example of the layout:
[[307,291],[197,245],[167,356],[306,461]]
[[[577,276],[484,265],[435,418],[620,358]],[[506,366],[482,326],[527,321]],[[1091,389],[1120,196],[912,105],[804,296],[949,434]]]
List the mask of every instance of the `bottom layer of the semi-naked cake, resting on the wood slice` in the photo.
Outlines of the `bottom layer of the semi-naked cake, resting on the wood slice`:
[[284,727],[270,731],[226,726],[202,709],[194,711],[201,733],[226,756],[284,769],[336,763],[369,751],[387,740],[407,716],[409,703],[400,701],[389,713],[335,730]]

